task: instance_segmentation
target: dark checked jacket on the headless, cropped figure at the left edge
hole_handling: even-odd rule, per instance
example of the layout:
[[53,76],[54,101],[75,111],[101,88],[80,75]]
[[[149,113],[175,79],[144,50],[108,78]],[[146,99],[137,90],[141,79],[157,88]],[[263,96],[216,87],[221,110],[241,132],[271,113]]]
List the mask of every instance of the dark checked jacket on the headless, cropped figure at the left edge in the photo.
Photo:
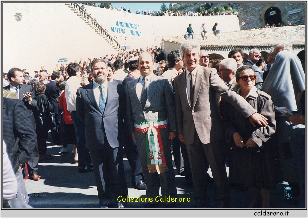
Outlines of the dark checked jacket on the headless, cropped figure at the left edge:
[[19,164],[30,160],[36,145],[36,133],[21,100],[2,97],[2,114],[3,140],[16,173]]

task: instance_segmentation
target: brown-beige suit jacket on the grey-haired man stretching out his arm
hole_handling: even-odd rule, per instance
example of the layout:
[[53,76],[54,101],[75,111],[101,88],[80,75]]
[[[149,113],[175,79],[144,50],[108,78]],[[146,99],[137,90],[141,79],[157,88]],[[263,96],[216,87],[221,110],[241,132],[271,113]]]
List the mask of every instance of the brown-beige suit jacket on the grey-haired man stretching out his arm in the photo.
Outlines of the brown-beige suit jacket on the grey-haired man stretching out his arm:
[[197,68],[193,109],[186,91],[186,70],[174,79],[177,130],[178,135],[184,134],[186,144],[193,144],[195,129],[203,144],[224,137],[216,93],[240,110],[246,118],[257,112],[244,98],[225,85],[216,69],[200,65]]

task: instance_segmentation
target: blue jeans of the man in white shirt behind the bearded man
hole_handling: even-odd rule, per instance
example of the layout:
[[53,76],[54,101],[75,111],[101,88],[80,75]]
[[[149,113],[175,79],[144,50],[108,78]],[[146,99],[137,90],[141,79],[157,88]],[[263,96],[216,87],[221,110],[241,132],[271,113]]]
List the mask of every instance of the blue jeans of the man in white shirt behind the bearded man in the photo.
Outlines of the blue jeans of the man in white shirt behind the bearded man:
[[77,131],[78,167],[83,169],[87,167],[87,165],[92,165],[90,152],[86,145],[86,129],[84,122],[77,117],[76,111],[71,112],[71,119]]

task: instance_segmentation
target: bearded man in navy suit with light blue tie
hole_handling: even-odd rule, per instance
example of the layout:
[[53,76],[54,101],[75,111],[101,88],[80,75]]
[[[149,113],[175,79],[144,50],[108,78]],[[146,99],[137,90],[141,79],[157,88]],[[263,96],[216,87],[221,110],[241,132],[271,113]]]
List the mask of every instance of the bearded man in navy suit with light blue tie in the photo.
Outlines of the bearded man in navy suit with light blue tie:
[[76,114],[86,127],[86,144],[102,208],[124,208],[126,203],[117,199],[128,195],[119,125],[126,111],[125,91],[122,84],[107,80],[105,60],[93,60],[91,74],[93,81],[77,90]]

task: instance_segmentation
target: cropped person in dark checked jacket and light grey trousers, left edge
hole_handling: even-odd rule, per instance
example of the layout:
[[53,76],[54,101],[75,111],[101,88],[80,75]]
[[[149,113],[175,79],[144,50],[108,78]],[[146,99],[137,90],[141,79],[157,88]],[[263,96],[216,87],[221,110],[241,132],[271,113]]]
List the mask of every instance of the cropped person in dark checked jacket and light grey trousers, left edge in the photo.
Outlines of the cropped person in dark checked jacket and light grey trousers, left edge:
[[32,208],[28,205],[29,196],[22,176],[22,166],[30,160],[37,145],[36,134],[22,101],[2,97],[2,114],[3,141],[17,180],[16,197],[10,199],[9,204],[11,208]]

